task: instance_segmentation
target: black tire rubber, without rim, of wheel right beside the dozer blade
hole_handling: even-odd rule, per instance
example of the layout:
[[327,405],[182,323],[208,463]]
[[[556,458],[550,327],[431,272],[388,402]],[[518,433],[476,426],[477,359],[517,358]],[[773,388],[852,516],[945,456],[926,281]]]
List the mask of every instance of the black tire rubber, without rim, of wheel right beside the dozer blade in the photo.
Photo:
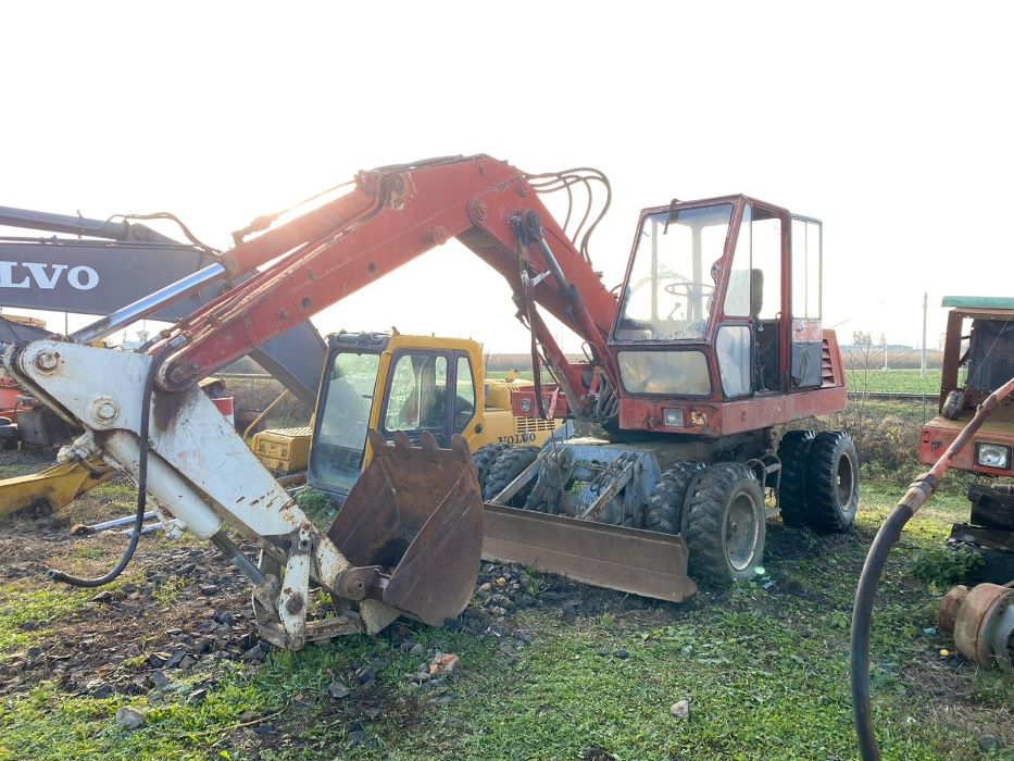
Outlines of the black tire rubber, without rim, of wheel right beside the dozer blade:
[[[729,507],[741,495],[748,496],[758,522],[758,536],[750,563],[737,570],[728,559],[725,524]],[[764,491],[753,473],[738,462],[719,462],[701,473],[687,496],[686,540],[690,550],[690,574],[698,581],[727,587],[753,578],[764,560],[766,513]]]

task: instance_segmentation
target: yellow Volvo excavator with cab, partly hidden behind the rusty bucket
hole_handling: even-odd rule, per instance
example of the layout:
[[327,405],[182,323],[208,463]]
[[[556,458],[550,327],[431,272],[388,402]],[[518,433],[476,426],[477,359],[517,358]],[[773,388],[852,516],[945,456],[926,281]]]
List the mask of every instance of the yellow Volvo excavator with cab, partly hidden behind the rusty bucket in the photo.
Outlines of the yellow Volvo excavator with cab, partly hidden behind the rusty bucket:
[[504,447],[541,447],[554,433],[572,433],[562,416],[515,414],[512,395],[533,386],[516,371],[488,378],[483,347],[474,340],[337,333],[327,337],[310,425],[258,432],[250,447],[276,475],[308,471],[312,486],[339,501],[373,457],[368,428],[389,439],[403,432],[415,444],[427,432],[443,447],[460,434],[481,472]]

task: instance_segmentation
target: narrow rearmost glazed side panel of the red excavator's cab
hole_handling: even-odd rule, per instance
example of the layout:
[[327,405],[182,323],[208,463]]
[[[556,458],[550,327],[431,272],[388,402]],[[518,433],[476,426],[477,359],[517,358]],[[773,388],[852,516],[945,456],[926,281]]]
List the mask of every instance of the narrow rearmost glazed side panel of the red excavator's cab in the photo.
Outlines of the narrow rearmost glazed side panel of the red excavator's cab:
[[790,388],[815,388],[822,384],[821,357],[824,329],[821,323],[822,227],[817,220],[792,216],[790,240],[791,335]]

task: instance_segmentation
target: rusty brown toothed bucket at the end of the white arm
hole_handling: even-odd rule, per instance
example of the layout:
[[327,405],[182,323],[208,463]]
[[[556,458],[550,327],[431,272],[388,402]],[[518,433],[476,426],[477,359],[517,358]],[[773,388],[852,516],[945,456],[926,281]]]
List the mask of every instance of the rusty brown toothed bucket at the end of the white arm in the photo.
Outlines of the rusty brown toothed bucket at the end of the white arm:
[[483,499],[468,445],[460,436],[439,449],[395,435],[389,446],[370,431],[373,460],[327,532],[353,565],[390,574],[381,601],[441,625],[475,591],[483,549]]

